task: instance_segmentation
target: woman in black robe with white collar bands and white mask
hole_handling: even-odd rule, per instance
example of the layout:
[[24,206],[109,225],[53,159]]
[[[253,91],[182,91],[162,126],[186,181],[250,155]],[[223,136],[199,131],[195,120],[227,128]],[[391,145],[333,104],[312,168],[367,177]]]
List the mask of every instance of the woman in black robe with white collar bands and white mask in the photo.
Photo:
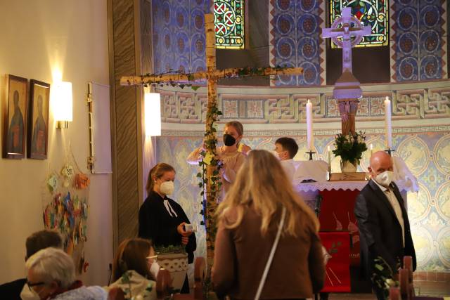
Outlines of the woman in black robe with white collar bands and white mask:
[[[160,162],[153,167],[147,180],[147,199],[139,208],[139,237],[152,240],[155,247],[183,245],[188,254],[188,263],[193,263],[197,247],[193,230],[180,204],[167,197],[174,193],[175,169]],[[181,293],[188,293],[188,278]]]

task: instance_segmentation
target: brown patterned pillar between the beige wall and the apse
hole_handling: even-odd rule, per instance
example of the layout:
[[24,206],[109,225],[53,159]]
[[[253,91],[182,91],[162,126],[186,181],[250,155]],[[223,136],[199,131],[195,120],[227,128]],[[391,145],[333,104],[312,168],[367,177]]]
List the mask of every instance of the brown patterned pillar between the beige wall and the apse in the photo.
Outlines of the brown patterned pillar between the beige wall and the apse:
[[141,74],[139,0],[108,0],[114,247],[135,237],[143,198],[141,88],[120,77]]

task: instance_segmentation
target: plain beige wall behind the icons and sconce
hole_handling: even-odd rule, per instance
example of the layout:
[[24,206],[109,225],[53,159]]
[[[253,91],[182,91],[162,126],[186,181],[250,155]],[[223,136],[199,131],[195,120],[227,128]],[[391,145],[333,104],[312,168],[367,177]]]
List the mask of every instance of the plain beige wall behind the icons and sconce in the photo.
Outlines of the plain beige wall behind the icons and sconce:
[[[62,79],[72,81],[74,102],[69,129],[56,130],[50,115],[48,159],[0,159],[0,282],[5,282],[25,275],[25,238],[44,228],[44,180],[49,170],[62,167],[69,145],[87,173],[87,82],[109,84],[106,0],[0,0],[0,28],[1,100],[5,74],[51,83],[58,67]],[[83,276],[88,284],[108,281],[113,257],[111,190],[110,175],[91,176],[85,244],[89,268]]]

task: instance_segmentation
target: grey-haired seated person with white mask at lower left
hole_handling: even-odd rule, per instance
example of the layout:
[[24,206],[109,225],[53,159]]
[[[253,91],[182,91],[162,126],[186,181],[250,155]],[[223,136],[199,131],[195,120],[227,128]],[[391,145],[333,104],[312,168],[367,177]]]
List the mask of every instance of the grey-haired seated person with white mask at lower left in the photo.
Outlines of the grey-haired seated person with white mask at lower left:
[[85,287],[75,280],[72,257],[61,249],[46,248],[33,254],[25,263],[27,285],[44,299],[104,300],[108,294],[101,287]]

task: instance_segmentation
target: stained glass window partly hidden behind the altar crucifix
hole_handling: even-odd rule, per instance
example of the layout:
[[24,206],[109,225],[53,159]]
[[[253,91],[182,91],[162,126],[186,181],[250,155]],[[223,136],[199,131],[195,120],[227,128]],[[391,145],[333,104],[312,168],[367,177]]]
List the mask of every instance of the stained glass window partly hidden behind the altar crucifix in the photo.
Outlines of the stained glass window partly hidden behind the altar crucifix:
[[[386,46],[389,44],[389,0],[330,0],[330,22],[340,18],[343,7],[351,7],[352,15],[363,26],[370,25],[372,34],[363,37],[356,47]],[[331,42],[331,48],[338,48]]]

